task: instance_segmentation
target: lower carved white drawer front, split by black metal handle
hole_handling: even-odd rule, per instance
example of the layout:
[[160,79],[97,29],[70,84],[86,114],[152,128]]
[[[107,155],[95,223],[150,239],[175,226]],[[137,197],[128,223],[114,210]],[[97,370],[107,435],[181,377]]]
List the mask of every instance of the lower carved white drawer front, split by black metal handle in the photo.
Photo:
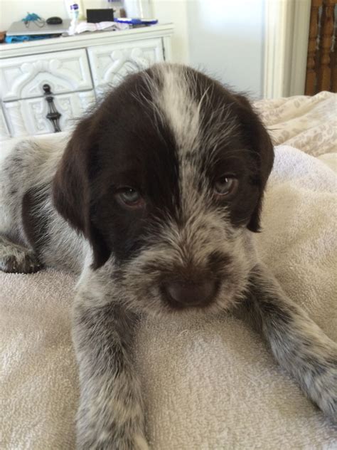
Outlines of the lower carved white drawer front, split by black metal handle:
[[[54,96],[55,108],[60,112],[60,129],[69,130],[87,108],[95,103],[93,90]],[[54,132],[47,119],[48,104],[45,98],[29,98],[4,103],[7,122],[14,137],[41,135]]]

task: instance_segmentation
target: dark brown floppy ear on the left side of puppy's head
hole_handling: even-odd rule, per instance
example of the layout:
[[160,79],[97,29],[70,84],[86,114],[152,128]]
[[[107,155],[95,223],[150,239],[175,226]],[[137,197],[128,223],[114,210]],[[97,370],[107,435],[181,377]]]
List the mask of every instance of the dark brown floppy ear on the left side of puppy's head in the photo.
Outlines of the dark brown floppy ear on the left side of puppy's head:
[[96,155],[92,128],[92,117],[86,117],[73,132],[53,179],[53,204],[63,219],[90,241],[92,266],[99,268],[110,251],[90,219]]

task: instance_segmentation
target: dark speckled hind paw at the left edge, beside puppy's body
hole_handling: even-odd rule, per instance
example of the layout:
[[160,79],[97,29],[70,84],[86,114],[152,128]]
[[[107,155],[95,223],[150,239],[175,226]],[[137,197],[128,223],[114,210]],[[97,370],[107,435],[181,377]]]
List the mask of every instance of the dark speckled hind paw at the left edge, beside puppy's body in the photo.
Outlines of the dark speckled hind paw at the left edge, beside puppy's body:
[[36,254],[23,247],[13,246],[0,251],[0,271],[7,273],[34,273],[42,268]]

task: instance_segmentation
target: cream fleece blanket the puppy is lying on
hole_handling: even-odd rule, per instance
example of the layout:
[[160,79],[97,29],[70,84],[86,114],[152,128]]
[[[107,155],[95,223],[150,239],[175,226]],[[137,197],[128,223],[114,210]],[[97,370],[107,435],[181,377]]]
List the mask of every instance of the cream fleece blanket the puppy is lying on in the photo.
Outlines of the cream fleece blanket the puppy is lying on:
[[[280,117],[278,127],[291,128]],[[315,141],[304,150],[315,154]],[[337,341],[337,155],[317,158],[289,145],[275,152],[257,248],[284,290]],[[52,269],[0,273],[1,450],[74,449],[74,286],[73,276]],[[226,314],[147,319],[136,345],[151,449],[337,448],[337,427],[240,320]]]

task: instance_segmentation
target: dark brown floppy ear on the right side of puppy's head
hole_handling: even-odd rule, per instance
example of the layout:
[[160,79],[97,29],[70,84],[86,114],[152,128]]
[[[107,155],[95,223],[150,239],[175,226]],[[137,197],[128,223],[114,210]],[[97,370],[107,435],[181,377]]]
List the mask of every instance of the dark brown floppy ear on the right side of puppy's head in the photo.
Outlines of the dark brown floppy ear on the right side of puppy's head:
[[260,196],[257,200],[255,209],[252,212],[252,216],[250,216],[250,221],[247,224],[247,229],[256,233],[257,231],[260,231],[263,192],[269,174],[272,171],[274,147],[267,130],[262,124],[260,117],[253,110],[249,100],[243,95],[235,95],[235,98],[240,105],[239,117],[242,123],[242,132],[244,133],[247,142],[250,142],[250,148],[255,154],[258,167],[256,182],[258,184]]

